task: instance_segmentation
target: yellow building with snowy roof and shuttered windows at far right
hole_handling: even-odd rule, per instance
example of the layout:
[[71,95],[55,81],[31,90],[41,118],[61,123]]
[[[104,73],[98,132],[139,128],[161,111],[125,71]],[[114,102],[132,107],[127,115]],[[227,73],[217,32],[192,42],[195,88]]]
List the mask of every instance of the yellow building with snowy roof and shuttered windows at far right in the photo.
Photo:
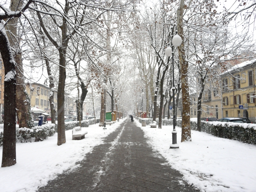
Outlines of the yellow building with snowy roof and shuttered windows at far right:
[[254,121],[256,59],[235,65],[223,73],[222,84],[223,117],[247,117]]

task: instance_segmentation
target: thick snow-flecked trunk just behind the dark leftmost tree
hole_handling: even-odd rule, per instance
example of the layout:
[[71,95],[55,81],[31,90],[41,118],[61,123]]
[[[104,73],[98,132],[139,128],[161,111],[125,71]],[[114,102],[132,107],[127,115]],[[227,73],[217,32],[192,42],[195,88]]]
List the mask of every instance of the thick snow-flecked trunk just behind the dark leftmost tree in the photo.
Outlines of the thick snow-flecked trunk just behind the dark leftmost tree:
[[[10,10],[20,11],[23,6],[23,1],[11,0]],[[25,77],[23,75],[22,54],[19,48],[19,37],[17,36],[18,18],[12,18],[7,24],[8,39],[10,45],[15,49],[14,59],[16,61],[16,113],[19,122],[19,128],[34,127],[34,120],[31,113],[30,98],[26,91]]]

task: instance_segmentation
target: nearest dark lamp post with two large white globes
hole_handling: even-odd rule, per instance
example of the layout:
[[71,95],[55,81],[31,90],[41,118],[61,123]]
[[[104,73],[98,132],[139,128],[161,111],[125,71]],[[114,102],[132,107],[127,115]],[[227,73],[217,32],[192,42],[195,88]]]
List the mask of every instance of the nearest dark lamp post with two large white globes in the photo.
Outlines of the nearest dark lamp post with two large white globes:
[[[176,35],[173,35],[174,27],[176,28]],[[170,148],[179,148],[177,144],[177,131],[175,129],[176,126],[176,120],[175,120],[175,87],[174,87],[174,46],[180,46],[182,43],[181,37],[177,34],[177,26],[174,24],[172,26],[172,44],[165,49],[165,55],[167,57],[172,56],[172,76],[173,76],[173,85],[172,85],[172,91],[173,91],[173,131],[172,131],[172,144],[170,144]]]

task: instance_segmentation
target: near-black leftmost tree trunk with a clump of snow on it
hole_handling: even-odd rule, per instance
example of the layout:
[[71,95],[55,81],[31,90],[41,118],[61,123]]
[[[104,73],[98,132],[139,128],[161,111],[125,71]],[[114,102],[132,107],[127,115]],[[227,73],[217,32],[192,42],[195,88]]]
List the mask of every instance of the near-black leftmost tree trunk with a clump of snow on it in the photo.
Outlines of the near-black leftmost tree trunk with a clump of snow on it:
[[0,53],[4,63],[4,135],[1,167],[16,164],[16,71],[10,42],[0,20]]

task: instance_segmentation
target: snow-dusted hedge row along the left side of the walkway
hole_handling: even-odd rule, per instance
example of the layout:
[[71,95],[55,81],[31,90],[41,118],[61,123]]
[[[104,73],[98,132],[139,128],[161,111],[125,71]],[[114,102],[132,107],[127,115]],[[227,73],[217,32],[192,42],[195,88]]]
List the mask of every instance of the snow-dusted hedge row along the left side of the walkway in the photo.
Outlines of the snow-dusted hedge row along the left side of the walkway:
[[[96,118],[96,123],[99,123],[99,118]],[[81,121],[82,127],[89,127],[94,124],[94,119]],[[65,123],[65,130],[73,129],[79,126],[79,121],[69,121]],[[36,126],[29,128],[17,128],[16,129],[16,142],[38,142],[47,139],[57,132],[57,125],[45,124],[42,126]],[[0,130],[0,146],[3,146],[3,130]]]

